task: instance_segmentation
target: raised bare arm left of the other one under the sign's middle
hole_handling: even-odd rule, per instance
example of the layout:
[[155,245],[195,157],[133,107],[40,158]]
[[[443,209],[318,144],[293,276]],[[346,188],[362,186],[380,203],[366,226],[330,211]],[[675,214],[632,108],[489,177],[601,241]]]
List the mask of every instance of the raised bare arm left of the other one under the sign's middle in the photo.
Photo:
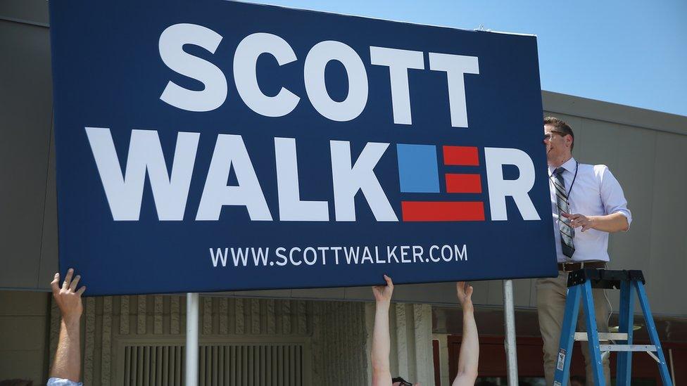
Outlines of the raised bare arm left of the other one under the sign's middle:
[[374,330],[372,330],[372,386],[390,386],[391,369],[389,368],[389,306],[393,282],[389,276],[384,275],[386,285],[372,287],[377,308],[374,312]]

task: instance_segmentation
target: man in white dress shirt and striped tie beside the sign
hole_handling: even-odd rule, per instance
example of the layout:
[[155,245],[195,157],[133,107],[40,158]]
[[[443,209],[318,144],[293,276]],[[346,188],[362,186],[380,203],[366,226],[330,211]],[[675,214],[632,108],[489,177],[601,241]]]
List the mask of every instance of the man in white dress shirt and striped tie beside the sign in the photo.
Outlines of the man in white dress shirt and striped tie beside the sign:
[[[553,385],[560,330],[565,314],[568,273],[582,268],[605,268],[608,233],[627,231],[632,221],[627,201],[617,179],[605,165],[585,165],[572,157],[575,137],[568,124],[544,118],[544,144],[550,175],[551,208],[556,239],[558,276],[537,280],[537,314],[544,342],[546,384]],[[596,323],[608,330],[610,304],[603,289],[593,290]],[[584,329],[580,307],[578,330]],[[593,383],[588,347],[582,345],[587,380]],[[603,361],[606,384],[610,385],[608,358]]]

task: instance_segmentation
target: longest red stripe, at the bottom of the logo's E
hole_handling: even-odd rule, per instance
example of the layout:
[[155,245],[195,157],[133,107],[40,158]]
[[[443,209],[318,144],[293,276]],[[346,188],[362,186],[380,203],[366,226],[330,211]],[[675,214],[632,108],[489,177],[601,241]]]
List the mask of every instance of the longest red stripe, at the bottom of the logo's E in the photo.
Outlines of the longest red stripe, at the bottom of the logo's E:
[[402,201],[403,221],[484,221],[484,202]]

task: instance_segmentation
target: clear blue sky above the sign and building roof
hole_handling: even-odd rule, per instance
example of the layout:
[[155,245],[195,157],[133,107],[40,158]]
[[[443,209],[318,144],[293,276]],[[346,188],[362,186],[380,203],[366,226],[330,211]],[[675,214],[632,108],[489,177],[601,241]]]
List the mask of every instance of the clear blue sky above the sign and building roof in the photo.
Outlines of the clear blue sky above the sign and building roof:
[[686,0],[252,0],[536,34],[541,88],[687,116]]

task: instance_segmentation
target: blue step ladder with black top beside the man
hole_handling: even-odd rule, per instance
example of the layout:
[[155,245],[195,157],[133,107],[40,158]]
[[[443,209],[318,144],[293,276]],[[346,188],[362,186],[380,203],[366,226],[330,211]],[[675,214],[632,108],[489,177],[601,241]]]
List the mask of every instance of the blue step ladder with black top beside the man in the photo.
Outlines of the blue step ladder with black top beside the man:
[[[574,340],[588,340],[590,360],[594,371],[594,385],[605,386],[602,366],[602,352],[618,352],[616,385],[630,385],[632,373],[632,352],[647,352],[658,363],[664,386],[672,386],[668,366],[658,340],[649,301],[644,290],[642,271],[610,271],[607,269],[585,268],[568,275],[568,294],[565,302],[565,318],[558,345],[558,358],[554,386],[565,386],[570,378],[570,359]],[[596,326],[592,288],[620,290],[619,330],[617,333],[599,333]],[[634,296],[637,293],[644,314],[651,345],[632,344],[632,323],[634,318]],[[584,306],[586,333],[576,333],[580,297]],[[601,345],[599,340],[615,340],[617,344]]]

